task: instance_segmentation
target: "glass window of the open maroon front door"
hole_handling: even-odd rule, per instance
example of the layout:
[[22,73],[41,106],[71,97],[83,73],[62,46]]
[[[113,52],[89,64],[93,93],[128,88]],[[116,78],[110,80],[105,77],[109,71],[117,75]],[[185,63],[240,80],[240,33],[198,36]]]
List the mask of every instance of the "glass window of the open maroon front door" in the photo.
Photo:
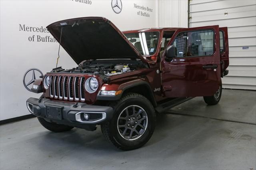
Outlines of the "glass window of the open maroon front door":
[[214,53],[214,32],[200,30],[182,32],[172,43],[177,49],[177,57],[208,56]]

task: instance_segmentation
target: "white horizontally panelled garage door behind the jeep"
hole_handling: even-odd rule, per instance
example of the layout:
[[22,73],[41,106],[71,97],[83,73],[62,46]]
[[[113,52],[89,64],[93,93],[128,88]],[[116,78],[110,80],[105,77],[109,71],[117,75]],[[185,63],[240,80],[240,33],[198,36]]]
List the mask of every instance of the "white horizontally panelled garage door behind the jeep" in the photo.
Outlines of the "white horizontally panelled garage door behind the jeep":
[[224,88],[256,90],[256,0],[190,0],[189,27],[228,27],[229,74]]

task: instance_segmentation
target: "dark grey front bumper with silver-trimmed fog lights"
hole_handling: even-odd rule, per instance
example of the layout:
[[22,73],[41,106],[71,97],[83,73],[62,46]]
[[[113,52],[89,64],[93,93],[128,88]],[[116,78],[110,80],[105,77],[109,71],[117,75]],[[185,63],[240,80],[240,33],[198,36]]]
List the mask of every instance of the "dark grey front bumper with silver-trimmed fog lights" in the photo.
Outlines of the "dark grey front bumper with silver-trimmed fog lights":
[[[27,107],[30,113],[46,121],[86,130],[95,130],[96,125],[109,121],[113,115],[112,107],[87,105],[86,103],[74,105],[74,103],[50,99],[39,100],[33,97],[27,100]],[[85,113],[89,115],[88,120],[83,117]]]

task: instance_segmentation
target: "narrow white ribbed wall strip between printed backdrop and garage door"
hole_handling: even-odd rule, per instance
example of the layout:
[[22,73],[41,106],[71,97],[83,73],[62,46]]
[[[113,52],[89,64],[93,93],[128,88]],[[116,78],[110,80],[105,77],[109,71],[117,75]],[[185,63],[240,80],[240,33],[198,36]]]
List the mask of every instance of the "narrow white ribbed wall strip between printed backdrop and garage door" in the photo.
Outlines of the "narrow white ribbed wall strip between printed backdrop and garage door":
[[158,0],[158,27],[188,28],[188,0]]

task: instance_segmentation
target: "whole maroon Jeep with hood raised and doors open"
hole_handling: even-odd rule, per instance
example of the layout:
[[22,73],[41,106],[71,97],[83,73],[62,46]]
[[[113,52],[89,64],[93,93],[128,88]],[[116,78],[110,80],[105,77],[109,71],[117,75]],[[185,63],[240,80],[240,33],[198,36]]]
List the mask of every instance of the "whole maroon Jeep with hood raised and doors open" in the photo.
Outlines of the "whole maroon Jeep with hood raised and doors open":
[[48,30],[78,64],[34,82],[27,107],[48,130],[96,130],[122,150],[143,146],[156,113],[204,97],[220,101],[228,74],[228,30],[146,28],[121,32],[101,17],[55,22]]

